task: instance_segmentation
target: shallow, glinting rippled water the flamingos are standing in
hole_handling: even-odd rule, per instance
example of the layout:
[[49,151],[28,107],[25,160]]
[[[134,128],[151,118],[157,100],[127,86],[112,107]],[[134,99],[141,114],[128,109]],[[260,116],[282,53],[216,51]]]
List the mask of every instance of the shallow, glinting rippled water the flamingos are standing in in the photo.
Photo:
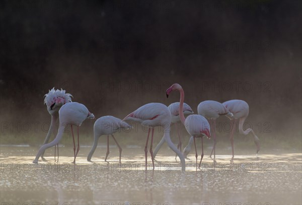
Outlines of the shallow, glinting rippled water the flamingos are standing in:
[[[81,148],[72,164],[72,148],[60,148],[59,162],[53,149],[45,162],[32,164],[37,148],[1,147],[2,204],[302,204],[302,155],[263,154],[208,156],[196,171],[195,156],[186,160],[186,172],[172,152],[156,157],[155,171],[148,153],[144,171],[142,148],[96,151],[87,162],[89,148]],[[229,153],[225,153],[229,154]],[[198,156],[199,163],[200,156]]]

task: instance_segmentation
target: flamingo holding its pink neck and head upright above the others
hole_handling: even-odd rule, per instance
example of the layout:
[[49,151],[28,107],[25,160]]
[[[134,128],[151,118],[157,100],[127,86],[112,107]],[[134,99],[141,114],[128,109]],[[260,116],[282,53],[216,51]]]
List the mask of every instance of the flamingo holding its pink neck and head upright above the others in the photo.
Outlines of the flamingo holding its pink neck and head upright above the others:
[[182,112],[183,110],[183,104],[184,104],[184,98],[185,98],[185,93],[183,88],[179,84],[173,84],[170,88],[167,89],[166,94],[167,97],[169,97],[169,94],[172,91],[178,90],[180,92],[180,104],[179,104],[179,117],[181,122],[185,125],[187,131],[191,136],[193,136],[193,141],[194,141],[194,146],[195,146],[195,157],[196,157],[196,169],[197,169],[197,150],[196,150],[196,143],[195,143],[195,138],[201,138],[201,149],[202,149],[202,154],[201,154],[201,159],[198,168],[200,168],[200,164],[203,158],[203,142],[202,138],[203,136],[206,136],[208,139],[211,138],[210,134],[210,125],[208,121],[201,115],[198,114],[192,114],[189,115],[187,118],[185,118],[184,113]]

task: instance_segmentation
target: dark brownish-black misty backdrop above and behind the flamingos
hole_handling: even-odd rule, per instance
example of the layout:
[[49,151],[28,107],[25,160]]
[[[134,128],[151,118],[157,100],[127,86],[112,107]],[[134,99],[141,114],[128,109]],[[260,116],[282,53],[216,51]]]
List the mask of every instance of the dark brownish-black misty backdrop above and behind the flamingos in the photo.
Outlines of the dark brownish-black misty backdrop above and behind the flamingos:
[[[0,7],[3,142],[38,135],[22,124],[50,121],[43,96],[52,87],[97,118],[123,118],[148,102],[178,101],[178,93],[167,99],[165,90],[179,83],[195,113],[204,100],[243,99],[262,142],[301,145],[301,1],[1,1]],[[93,123],[83,123],[89,134]],[[259,123],[270,132],[255,128]]]

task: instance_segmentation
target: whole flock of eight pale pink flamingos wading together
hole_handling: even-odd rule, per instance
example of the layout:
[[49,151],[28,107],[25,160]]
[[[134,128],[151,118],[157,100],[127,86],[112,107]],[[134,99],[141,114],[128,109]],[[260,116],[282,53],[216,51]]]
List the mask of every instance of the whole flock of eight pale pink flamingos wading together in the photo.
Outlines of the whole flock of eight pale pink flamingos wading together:
[[[232,128],[230,134],[230,141],[232,145],[232,159],[234,158],[234,130],[236,126],[236,121],[239,120],[239,131],[240,133],[247,135],[251,132],[254,138],[254,142],[257,147],[256,154],[258,154],[260,150],[259,139],[256,136],[255,132],[248,128],[247,130],[243,129],[243,123],[249,114],[249,105],[243,100],[230,100],[224,103],[219,103],[217,101],[207,100],[201,102],[198,107],[198,114],[193,114],[191,107],[184,103],[184,90],[179,84],[173,84],[170,88],[167,89],[166,94],[169,97],[170,93],[173,91],[180,92],[180,102],[175,102],[167,107],[162,103],[148,103],[137,110],[128,114],[123,120],[113,117],[113,116],[103,116],[96,120],[94,123],[94,143],[91,151],[87,157],[87,160],[91,162],[91,158],[93,153],[95,152],[98,144],[98,140],[101,135],[107,135],[107,153],[105,157],[105,161],[107,161],[107,157],[109,155],[109,135],[112,136],[113,140],[117,144],[119,148],[119,162],[121,163],[121,152],[122,148],[117,143],[114,133],[120,128],[131,129],[132,126],[129,124],[130,122],[139,122],[142,126],[148,127],[148,134],[146,139],[146,144],[144,148],[145,153],[145,169],[147,169],[147,146],[149,141],[149,135],[151,133],[150,147],[149,152],[152,158],[153,169],[154,159],[160,150],[161,146],[167,142],[168,146],[176,153],[176,157],[178,156],[181,161],[182,170],[185,170],[185,158],[187,158],[188,153],[191,150],[192,143],[194,142],[195,147],[195,157],[196,157],[196,168],[197,168],[197,150],[196,150],[196,142],[195,138],[201,138],[201,148],[202,154],[200,159],[200,164],[203,158],[203,136],[206,136],[208,139],[211,138],[211,133],[213,135],[214,143],[213,149],[210,154],[214,155],[215,159],[215,145],[216,145],[216,136],[215,136],[215,121],[220,115],[225,115],[232,121]],[[72,102],[71,94],[65,93],[65,90],[55,90],[54,88],[49,91],[48,94],[45,95],[44,104],[47,106],[47,110],[51,115],[51,124],[46,135],[43,146],[39,149],[35,160],[33,163],[38,163],[39,158],[45,160],[43,155],[47,148],[58,145],[59,141],[62,138],[64,129],[67,125],[71,126],[71,133],[73,139],[73,152],[74,152],[74,160],[77,158],[77,155],[80,150],[79,144],[79,126],[83,123],[85,119],[94,119],[95,116],[87,107],[81,103]],[[186,117],[185,117],[186,116]],[[56,133],[55,130],[55,122],[59,119],[59,128]],[[129,122],[129,123],[128,123]],[[181,152],[181,138],[179,133],[180,122],[185,125],[186,130],[191,135],[189,140],[189,144],[185,147],[183,153]],[[209,123],[210,122],[210,123]],[[171,139],[170,139],[170,126],[171,123],[175,124],[178,132],[179,143],[176,147]],[[211,125],[210,125],[211,124]],[[78,146],[75,146],[74,135],[72,126],[77,126],[77,136],[78,136]],[[164,128],[164,136],[158,146],[153,151],[153,135],[154,135],[154,127],[162,126]],[[55,139],[48,143],[51,133],[56,135]],[[56,153],[56,149],[55,149]],[[57,146],[57,153],[59,155],[59,150]],[[56,155],[56,154],[55,154]],[[56,158],[55,158],[56,159]]]

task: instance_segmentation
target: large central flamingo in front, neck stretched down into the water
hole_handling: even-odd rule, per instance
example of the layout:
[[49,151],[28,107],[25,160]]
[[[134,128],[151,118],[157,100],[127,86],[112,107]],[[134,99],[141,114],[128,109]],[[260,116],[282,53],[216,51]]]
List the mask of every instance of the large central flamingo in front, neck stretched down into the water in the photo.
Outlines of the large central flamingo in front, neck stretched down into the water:
[[164,127],[164,138],[165,141],[168,143],[169,147],[178,155],[182,165],[182,171],[185,171],[185,158],[183,154],[176,148],[176,146],[172,143],[170,139],[170,124],[171,124],[171,112],[169,108],[162,104],[162,103],[148,103],[141,107],[139,107],[134,112],[128,114],[123,121],[135,121],[140,122],[142,126],[149,127],[148,135],[145,145],[145,169],[147,169],[147,146],[149,140],[150,130],[152,129],[152,136],[150,142],[149,152],[152,158],[152,165],[154,170],[154,157],[153,157],[153,134],[154,134],[154,127],[162,126]]

